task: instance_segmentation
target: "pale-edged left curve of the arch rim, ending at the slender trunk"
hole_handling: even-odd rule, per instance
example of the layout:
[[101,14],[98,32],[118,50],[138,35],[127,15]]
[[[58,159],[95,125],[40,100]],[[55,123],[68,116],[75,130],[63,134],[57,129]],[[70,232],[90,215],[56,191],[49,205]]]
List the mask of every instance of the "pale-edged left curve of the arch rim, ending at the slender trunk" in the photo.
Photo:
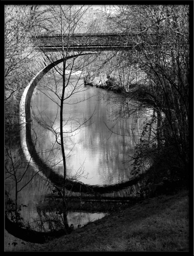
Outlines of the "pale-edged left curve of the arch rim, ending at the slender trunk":
[[[70,55],[66,59],[74,58],[81,55],[92,54],[90,53],[81,53],[76,55]],[[33,91],[37,86],[37,83],[41,80],[41,78],[56,65],[61,63],[63,58],[58,59],[44,67],[40,70],[29,82],[26,89],[23,91],[21,100],[19,103],[19,125],[20,125],[20,143],[23,154],[25,155],[28,162],[31,163],[36,169],[39,170],[39,175],[51,180],[55,185],[62,185],[63,178],[62,176],[56,174],[53,169],[47,166],[42,159],[39,157],[38,153],[35,150],[35,145],[32,140],[31,135],[31,111],[30,111],[30,103]],[[82,188],[84,189],[84,184],[82,184]],[[88,187],[85,185],[85,188]],[[88,190],[88,189],[87,189]]]

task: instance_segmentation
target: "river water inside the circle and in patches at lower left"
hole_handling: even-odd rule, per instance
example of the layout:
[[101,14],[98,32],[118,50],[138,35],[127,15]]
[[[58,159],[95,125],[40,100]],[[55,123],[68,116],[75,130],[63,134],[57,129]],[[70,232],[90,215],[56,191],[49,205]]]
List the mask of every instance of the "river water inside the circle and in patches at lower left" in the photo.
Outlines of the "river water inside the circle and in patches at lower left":
[[[62,176],[61,149],[57,143],[60,143],[60,109],[57,106],[60,101],[57,95],[61,95],[61,84],[61,78],[54,76],[52,72],[41,79],[31,99],[31,127],[39,156]],[[74,94],[70,96],[72,91]],[[127,181],[131,177],[132,169],[129,163],[130,156],[134,154],[134,147],[139,142],[143,122],[145,118],[150,117],[150,110],[147,114],[144,112],[141,115],[136,109],[135,102],[131,102],[130,108],[134,109],[131,111],[133,114],[124,115],[124,106],[127,102],[124,96],[84,86],[83,78],[78,79],[77,76],[70,77],[65,96],[68,99],[64,101],[63,132],[68,178],[91,185],[108,185]],[[129,108],[128,104],[127,106]],[[19,138],[12,143],[11,152],[12,155],[17,156],[15,164],[22,162],[17,167],[17,176],[21,177],[28,163],[23,160],[25,156],[22,154]],[[35,172],[37,170],[29,165],[28,172],[17,183],[17,189],[22,188],[18,193],[18,205],[27,205],[27,207],[21,207],[22,218],[26,223],[29,222],[31,227],[40,230],[40,226],[38,228],[36,226],[37,221],[41,223],[49,219],[55,214],[57,207],[51,208],[53,187],[41,175],[36,175],[28,184]],[[6,190],[14,199],[14,180],[10,178],[6,180]],[[84,225],[104,215],[105,212],[98,211],[70,211],[67,219],[69,225],[72,223],[77,227],[78,224]],[[42,228],[44,231],[51,229],[48,224],[42,225]],[[16,250],[14,245],[8,246],[9,241],[15,241],[15,238],[6,234],[5,248]],[[19,243],[21,246],[21,242]]]

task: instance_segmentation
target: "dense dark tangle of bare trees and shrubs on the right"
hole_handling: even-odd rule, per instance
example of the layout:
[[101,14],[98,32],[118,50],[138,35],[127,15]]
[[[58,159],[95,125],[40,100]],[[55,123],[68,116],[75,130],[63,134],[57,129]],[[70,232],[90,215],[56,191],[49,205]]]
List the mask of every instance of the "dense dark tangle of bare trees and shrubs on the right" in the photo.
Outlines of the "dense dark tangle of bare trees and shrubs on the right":
[[[131,90],[129,85],[127,97],[139,100],[140,108],[153,108],[157,120],[156,129],[152,129],[155,144],[140,138],[136,147],[134,173],[142,172],[143,162],[149,162],[151,158],[152,163],[161,161],[164,165],[167,160],[166,168],[173,172],[178,168],[180,176],[187,175],[189,6],[118,5],[115,8],[112,28],[129,34],[134,45],[131,51],[120,54],[117,65],[120,69],[125,67],[126,72],[138,63],[141,74],[144,74],[144,78],[137,82],[142,84],[141,90],[136,86]],[[128,81],[129,77],[126,77],[124,84]],[[147,126],[143,133],[149,133]]]

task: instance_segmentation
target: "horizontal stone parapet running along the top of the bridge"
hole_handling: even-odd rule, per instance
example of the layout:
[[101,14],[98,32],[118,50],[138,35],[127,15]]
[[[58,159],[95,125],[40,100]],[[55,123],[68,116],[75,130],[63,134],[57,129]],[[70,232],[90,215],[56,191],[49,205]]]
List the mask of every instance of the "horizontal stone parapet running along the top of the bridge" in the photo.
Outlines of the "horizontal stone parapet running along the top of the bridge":
[[[138,36],[140,36],[138,34]],[[34,49],[44,51],[61,51],[62,40],[60,34],[39,34],[32,37]],[[114,34],[114,33],[88,33],[88,34],[63,34],[63,46],[68,51],[112,51],[112,50],[140,50],[133,39],[137,34]]]

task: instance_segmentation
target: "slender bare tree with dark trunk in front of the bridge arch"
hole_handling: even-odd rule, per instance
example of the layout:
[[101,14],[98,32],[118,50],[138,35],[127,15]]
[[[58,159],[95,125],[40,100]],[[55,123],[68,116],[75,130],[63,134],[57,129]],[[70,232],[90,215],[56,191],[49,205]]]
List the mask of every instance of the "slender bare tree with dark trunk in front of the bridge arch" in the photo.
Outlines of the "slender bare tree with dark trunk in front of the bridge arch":
[[[69,228],[66,215],[67,215],[67,204],[66,204],[66,180],[67,180],[67,167],[66,167],[66,160],[67,156],[65,155],[65,137],[64,134],[66,133],[68,136],[68,133],[72,134],[76,131],[78,131],[81,127],[84,125],[87,125],[87,121],[91,119],[91,117],[88,120],[73,120],[72,118],[69,118],[68,120],[64,120],[64,105],[65,104],[71,104],[68,102],[70,97],[73,94],[77,94],[81,90],[86,90],[83,88],[82,84],[79,84],[79,78],[80,75],[78,75],[77,80],[72,82],[71,77],[75,73],[78,74],[78,72],[82,72],[83,68],[87,65],[87,63],[81,59],[80,56],[84,56],[87,53],[87,50],[78,51],[76,47],[74,49],[70,49],[70,46],[75,44],[76,38],[74,37],[75,32],[77,31],[77,27],[80,26],[80,20],[82,20],[83,16],[88,11],[88,6],[47,6],[47,10],[49,10],[49,16],[52,17],[52,21],[54,24],[58,26],[58,31],[60,31],[60,37],[59,41],[61,43],[61,50],[59,52],[59,56],[62,59],[61,65],[58,65],[58,67],[54,67],[53,69],[53,75],[55,79],[55,84],[52,84],[51,86],[44,86],[48,91],[50,91],[49,94],[47,94],[48,97],[50,97],[51,100],[53,100],[58,108],[59,115],[56,118],[59,118],[59,127],[54,127],[54,121],[50,123],[46,123],[43,116],[40,114],[39,117],[35,118],[39,124],[41,124],[44,128],[50,130],[55,138],[57,144],[60,145],[61,148],[61,155],[62,155],[62,163],[63,163],[63,184],[62,189],[59,187],[57,190],[59,191],[62,199],[63,199],[63,222],[64,227],[66,229]],[[37,40],[38,44],[38,40]],[[91,44],[91,40],[88,40],[85,42],[85,48],[87,49],[87,45]],[[43,49],[41,49],[43,51]],[[86,51],[86,52],[85,52]],[[48,62],[52,63],[51,55],[45,51],[43,51],[44,57],[48,60]],[[89,58],[89,61],[91,62],[93,58]],[[41,89],[40,89],[41,90]],[[55,96],[55,98],[52,96],[52,94]],[[83,100],[83,99],[82,99]],[[85,100],[85,99],[84,99]],[[79,100],[76,102],[79,103]],[[74,104],[74,103],[73,103]],[[95,110],[94,110],[95,111]],[[93,115],[93,114],[92,114]],[[65,132],[64,127],[67,124],[67,122],[71,122],[74,126],[70,125],[70,131]],[[74,177],[71,177],[71,179],[78,179],[81,175],[83,175],[83,167],[77,171],[76,175]]]

